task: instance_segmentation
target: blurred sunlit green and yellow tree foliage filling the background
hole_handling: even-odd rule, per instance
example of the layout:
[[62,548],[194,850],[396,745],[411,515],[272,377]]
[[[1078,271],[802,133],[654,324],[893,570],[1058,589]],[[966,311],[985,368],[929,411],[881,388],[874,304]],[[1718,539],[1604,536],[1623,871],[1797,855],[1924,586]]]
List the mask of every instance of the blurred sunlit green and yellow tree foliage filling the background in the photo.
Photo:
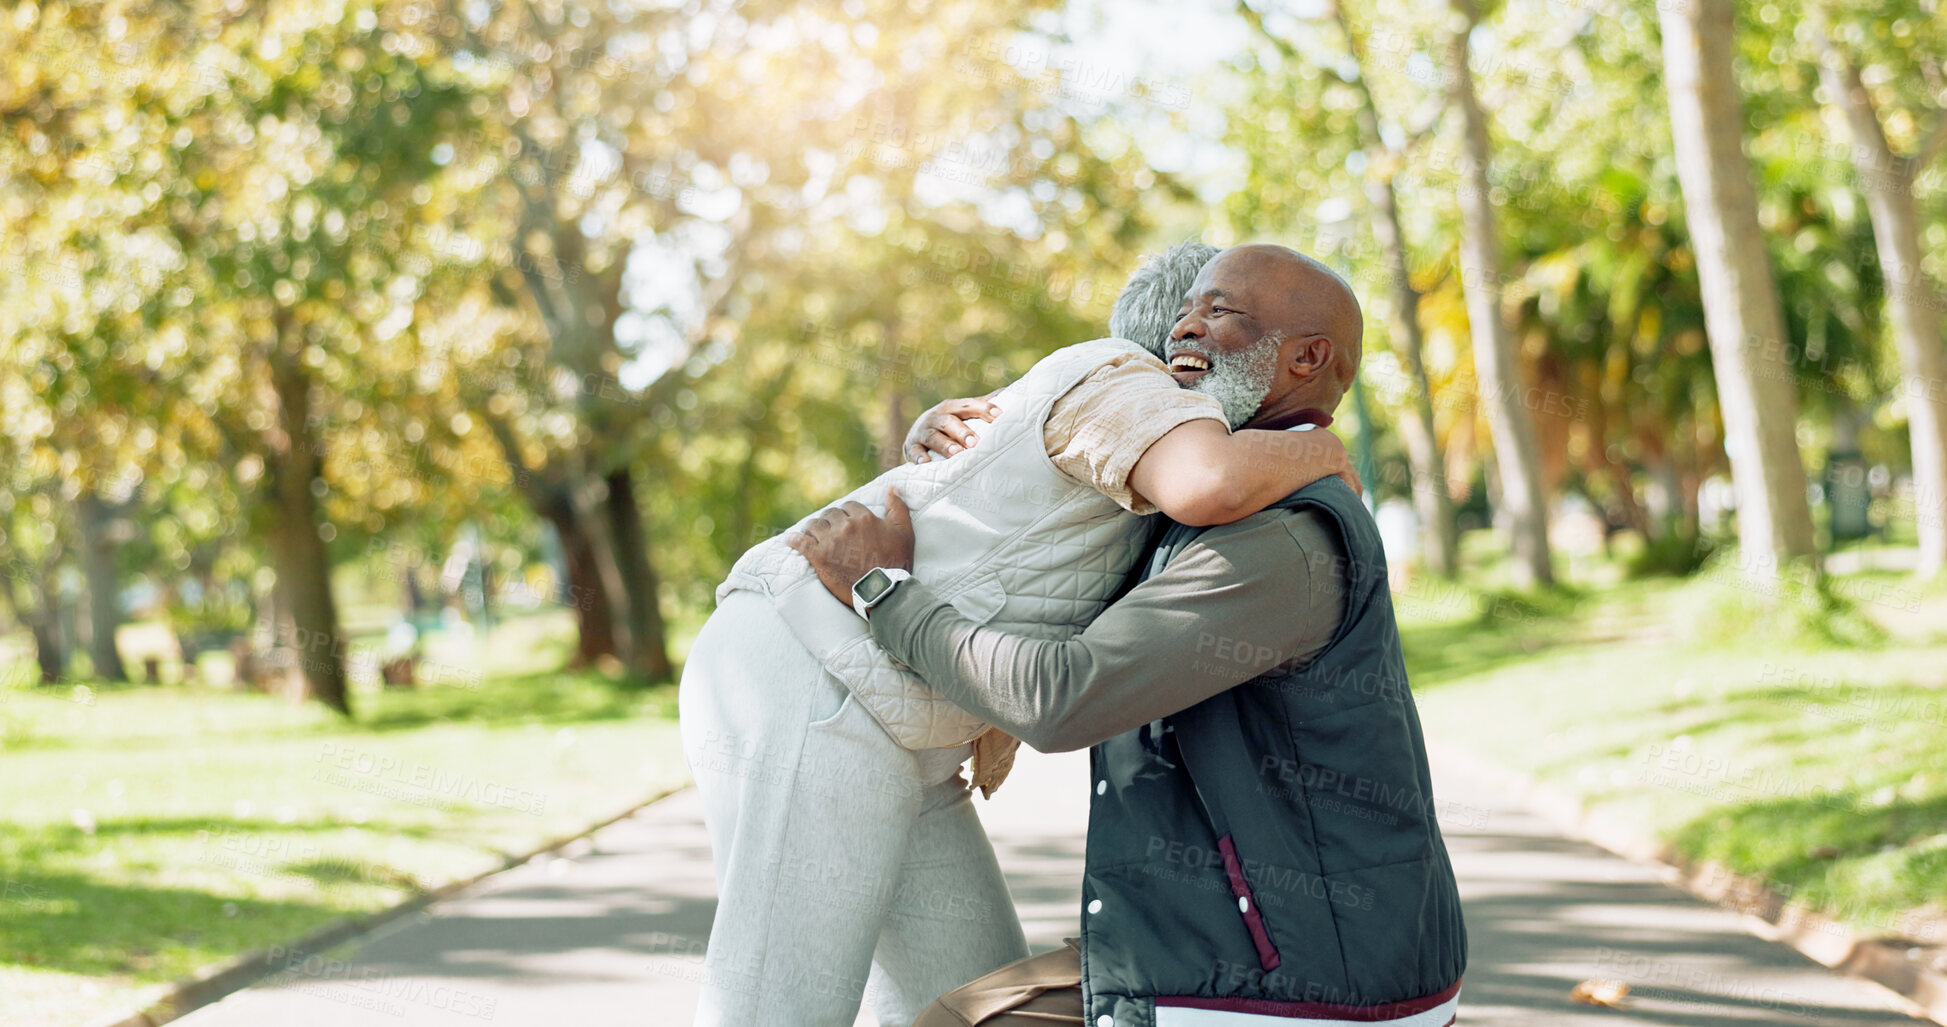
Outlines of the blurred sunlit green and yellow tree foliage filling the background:
[[[185,631],[241,628],[243,589],[259,645],[298,645],[343,635],[331,565],[382,553],[393,590],[430,589],[477,532],[502,581],[561,561],[543,598],[582,614],[578,665],[666,676],[664,622],[707,610],[746,546],[896,460],[927,403],[1100,333],[1137,255],[1182,226],[1281,238],[1359,283],[1369,442],[1400,468],[1412,378],[1388,345],[1377,179],[1421,294],[1439,477],[1478,526],[1493,468],[1445,16],[1211,8],[1250,14],[1252,35],[1174,95],[1059,68],[1055,10],[18,4],[0,35],[0,598],[53,651],[43,672],[66,659],[93,550]],[[1824,21],[1900,144],[1941,107],[1928,10]],[[1898,468],[1873,226],[1807,25],[1746,12],[1739,68],[1801,442],[1817,462],[1842,433]],[[1604,534],[1690,552],[1727,460],[1655,23],[1509,0],[1474,51],[1544,481],[1585,495]],[[1227,97],[1244,170],[1209,212],[1135,131],[1209,136],[1207,95]],[[1916,191],[1937,269],[1941,175]],[[1378,499],[1406,491],[1377,477]],[[119,511],[113,538],[74,516],[92,499]]]

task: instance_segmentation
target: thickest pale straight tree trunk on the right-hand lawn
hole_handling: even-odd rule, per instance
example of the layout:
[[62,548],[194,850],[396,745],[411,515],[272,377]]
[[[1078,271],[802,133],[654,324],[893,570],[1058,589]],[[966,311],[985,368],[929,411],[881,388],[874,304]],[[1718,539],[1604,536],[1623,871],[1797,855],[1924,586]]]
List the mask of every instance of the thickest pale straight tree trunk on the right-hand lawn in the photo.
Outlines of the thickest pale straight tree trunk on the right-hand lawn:
[[1783,561],[1817,559],[1817,544],[1799,460],[1799,398],[1785,359],[1783,312],[1743,150],[1745,111],[1731,72],[1733,2],[1667,0],[1657,10],[1676,179],[1698,259],[1704,325],[1737,489],[1737,536],[1745,573],[1766,579]]

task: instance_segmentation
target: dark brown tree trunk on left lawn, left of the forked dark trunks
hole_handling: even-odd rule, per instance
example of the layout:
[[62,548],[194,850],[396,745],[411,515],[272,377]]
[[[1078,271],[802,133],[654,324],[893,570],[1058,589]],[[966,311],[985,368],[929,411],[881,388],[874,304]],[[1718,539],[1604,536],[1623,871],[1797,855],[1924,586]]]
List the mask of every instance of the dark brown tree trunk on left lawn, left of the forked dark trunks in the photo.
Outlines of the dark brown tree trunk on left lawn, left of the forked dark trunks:
[[323,442],[312,423],[312,380],[282,345],[271,347],[269,362],[276,394],[276,423],[269,433],[275,514],[269,542],[278,608],[288,614],[286,641],[298,655],[306,692],[350,717],[345,639],[339,637],[339,608],[331,598],[331,555],[317,534],[321,511],[312,491],[325,464]]

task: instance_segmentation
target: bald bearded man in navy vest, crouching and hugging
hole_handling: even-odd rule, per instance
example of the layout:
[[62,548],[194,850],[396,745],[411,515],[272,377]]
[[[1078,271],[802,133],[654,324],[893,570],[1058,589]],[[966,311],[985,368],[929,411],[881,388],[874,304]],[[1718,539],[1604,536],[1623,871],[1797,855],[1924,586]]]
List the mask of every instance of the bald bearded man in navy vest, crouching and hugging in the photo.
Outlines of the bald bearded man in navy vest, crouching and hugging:
[[[1168,361],[1232,425],[1293,427],[1338,405],[1361,333],[1324,265],[1246,246],[1205,265]],[[909,567],[903,514],[896,497],[886,518],[826,511],[794,546],[847,594]],[[1092,746],[1081,939],[948,992],[915,1027],[1454,1021],[1460,898],[1384,552],[1341,481],[1234,524],[1172,524],[1141,583],[1067,641],[979,626],[919,579],[868,626],[987,723]]]

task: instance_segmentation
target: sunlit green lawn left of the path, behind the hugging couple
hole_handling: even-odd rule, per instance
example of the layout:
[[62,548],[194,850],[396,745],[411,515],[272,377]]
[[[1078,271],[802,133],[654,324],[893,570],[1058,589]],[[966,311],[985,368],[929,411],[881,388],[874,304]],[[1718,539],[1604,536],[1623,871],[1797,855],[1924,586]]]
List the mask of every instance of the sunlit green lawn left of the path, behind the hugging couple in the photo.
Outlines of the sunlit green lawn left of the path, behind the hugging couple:
[[362,690],[358,723],[185,686],[0,692],[0,1023],[148,1002],[680,787],[674,686],[539,670],[555,628],[444,639],[491,670]]

